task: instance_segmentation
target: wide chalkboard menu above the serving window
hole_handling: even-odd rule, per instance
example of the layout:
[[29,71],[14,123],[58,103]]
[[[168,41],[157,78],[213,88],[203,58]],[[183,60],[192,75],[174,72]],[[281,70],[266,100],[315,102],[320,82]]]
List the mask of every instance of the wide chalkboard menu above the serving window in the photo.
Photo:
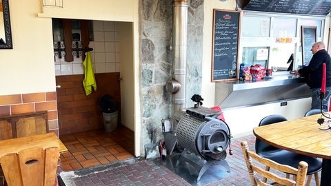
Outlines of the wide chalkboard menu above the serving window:
[[326,16],[331,12],[330,0],[250,0],[243,10],[314,14]]

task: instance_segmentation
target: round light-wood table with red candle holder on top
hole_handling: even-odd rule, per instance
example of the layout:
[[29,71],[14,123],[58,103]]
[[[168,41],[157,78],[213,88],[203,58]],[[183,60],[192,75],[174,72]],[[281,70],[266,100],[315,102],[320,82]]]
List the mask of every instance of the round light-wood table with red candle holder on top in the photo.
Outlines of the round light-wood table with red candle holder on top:
[[[328,116],[331,112],[326,112]],[[323,158],[321,185],[331,185],[331,130],[328,128],[328,118],[322,125],[317,119],[325,118],[322,114],[297,118],[290,121],[254,127],[257,138],[279,149],[290,152]],[[331,119],[330,119],[331,121]],[[331,122],[330,122],[331,125]],[[309,166],[309,165],[308,165]]]

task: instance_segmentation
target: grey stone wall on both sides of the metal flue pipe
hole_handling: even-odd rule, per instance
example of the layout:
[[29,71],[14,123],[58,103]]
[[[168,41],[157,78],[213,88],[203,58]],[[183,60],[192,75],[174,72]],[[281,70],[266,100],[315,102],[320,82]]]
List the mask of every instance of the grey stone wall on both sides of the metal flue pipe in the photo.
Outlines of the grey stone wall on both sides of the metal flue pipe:
[[[141,82],[141,142],[163,140],[162,118],[171,117],[171,94],[165,90],[172,70],[172,1],[139,1],[139,45]],[[188,1],[188,51],[186,103],[201,94],[203,45],[203,0]],[[152,137],[153,134],[153,137]],[[141,154],[145,154],[142,147]]]

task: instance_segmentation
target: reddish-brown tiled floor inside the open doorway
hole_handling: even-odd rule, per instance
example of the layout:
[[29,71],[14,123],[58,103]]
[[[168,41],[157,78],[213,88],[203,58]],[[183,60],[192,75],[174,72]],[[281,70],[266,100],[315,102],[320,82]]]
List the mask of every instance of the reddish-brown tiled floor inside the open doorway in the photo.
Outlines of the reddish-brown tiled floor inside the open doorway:
[[60,157],[65,172],[131,158],[134,154],[134,132],[124,126],[114,132],[65,134],[60,139],[68,148]]

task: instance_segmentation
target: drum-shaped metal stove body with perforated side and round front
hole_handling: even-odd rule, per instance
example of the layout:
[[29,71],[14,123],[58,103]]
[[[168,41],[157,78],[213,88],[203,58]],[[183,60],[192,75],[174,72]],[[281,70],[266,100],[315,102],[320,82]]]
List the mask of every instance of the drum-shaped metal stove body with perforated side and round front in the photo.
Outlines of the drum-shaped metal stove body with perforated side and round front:
[[218,118],[185,114],[177,125],[179,145],[206,160],[223,160],[230,143],[230,129]]

